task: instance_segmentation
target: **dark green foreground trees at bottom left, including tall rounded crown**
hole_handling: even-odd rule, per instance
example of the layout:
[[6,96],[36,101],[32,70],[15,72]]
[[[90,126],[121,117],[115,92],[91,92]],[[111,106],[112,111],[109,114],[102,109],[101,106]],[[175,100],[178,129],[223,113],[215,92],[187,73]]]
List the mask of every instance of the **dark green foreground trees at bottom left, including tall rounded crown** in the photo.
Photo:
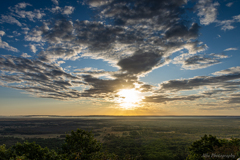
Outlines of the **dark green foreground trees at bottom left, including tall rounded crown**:
[[10,148],[0,146],[1,160],[117,160],[115,154],[100,152],[101,144],[91,132],[77,129],[66,135],[65,143],[59,151],[42,148],[35,142],[16,143]]

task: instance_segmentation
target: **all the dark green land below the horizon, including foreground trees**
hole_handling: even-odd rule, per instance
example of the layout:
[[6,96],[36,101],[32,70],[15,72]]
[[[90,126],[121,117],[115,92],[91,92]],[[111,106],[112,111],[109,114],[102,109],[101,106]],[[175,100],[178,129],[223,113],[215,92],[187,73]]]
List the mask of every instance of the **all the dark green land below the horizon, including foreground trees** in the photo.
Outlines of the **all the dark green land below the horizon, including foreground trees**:
[[236,160],[239,126],[238,118],[4,119],[0,160]]

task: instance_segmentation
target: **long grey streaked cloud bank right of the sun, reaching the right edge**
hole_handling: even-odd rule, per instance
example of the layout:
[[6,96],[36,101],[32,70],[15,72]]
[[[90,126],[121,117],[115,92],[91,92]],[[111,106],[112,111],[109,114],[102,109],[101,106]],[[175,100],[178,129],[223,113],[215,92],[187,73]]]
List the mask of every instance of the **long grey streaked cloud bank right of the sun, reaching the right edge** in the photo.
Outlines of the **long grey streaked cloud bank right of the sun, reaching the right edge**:
[[[191,100],[194,98],[206,98],[211,101],[220,102],[222,105],[239,103],[240,72],[239,67],[213,73],[215,76],[197,76],[191,79],[170,80],[159,85],[160,89],[155,91],[156,96],[147,97],[145,101],[165,102],[176,100]],[[167,93],[181,93],[183,91],[198,91],[197,96],[167,97]],[[186,92],[187,94],[187,92]],[[210,103],[211,104],[211,103]],[[206,104],[207,105],[207,104]],[[231,107],[230,107],[231,108]]]

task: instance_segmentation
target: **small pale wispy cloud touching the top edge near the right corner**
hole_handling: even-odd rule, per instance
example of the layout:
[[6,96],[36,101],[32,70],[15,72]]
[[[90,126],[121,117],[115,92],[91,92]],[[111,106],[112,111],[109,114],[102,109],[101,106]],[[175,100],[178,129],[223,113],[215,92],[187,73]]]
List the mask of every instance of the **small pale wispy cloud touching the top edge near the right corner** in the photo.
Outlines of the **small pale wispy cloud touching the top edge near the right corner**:
[[200,17],[200,23],[203,25],[209,25],[215,22],[217,19],[217,7],[220,4],[218,2],[212,3],[212,0],[199,0],[195,6],[195,10]]

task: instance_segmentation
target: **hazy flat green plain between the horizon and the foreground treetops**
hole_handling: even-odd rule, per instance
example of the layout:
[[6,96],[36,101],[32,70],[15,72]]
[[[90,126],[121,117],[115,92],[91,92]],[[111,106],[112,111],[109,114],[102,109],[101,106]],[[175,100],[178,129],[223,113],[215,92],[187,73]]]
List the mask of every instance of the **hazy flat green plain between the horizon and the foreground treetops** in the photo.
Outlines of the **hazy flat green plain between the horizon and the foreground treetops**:
[[77,128],[92,131],[109,152],[145,156],[174,152],[184,159],[188,146],[205,134],[240,138],[240,117],[1,118],[0,145],[28,140],[56,149],[65,134]]

